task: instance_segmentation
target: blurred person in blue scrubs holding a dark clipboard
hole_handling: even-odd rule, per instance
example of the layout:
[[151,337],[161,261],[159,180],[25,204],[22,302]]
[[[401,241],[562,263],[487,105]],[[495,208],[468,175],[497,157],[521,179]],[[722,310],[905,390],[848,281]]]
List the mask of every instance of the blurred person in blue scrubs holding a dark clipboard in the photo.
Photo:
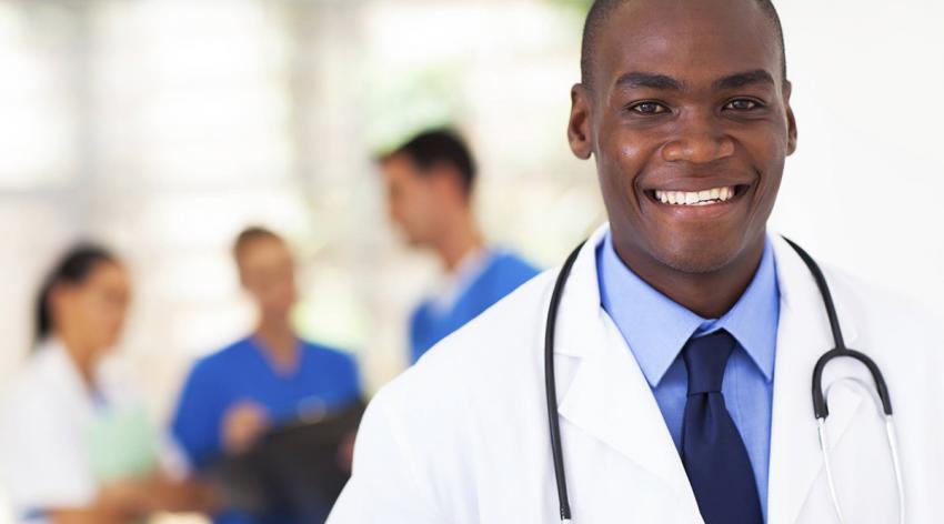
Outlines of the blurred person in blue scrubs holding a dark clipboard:
[[[233,253],[240,281],[259,308],[259,323],[250,336],[201,360],[184,385],[173,434],[198,471],[250,450],[274,424],[361,399],[354,361],[299,339],[291,326],[298,293],[285,241],[252,228],[239,235]],[[235,511],[214,522],[292,524],[284,516],[254,521]]]

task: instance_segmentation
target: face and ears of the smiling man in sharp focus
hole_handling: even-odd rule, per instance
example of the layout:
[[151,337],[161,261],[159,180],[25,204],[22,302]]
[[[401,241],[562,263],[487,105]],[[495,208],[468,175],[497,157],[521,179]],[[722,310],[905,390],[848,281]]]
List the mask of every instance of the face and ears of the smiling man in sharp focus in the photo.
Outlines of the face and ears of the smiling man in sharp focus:
[[629,1],[597,34],[570,138],[595,155],[624,259],[706,273],[760,255],[796,131],[756,3]]

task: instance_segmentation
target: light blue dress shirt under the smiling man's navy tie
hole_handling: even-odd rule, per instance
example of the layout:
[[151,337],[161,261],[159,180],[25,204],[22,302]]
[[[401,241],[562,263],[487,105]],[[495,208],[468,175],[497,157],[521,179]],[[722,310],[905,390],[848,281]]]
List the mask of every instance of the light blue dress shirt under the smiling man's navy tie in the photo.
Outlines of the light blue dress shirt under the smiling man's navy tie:
[[722,394],[747,449],[766,518],[780,320],[780,289],[770,241],[751,284],[721,319],[702,319],[640,279],[616,254],[610,233],[596,248],[596,270],[603,309],[639,362],[676,449],[681,449],[687,393],[682,347],[693,334],[704,335],[721,329],[737,340],[724,370]]

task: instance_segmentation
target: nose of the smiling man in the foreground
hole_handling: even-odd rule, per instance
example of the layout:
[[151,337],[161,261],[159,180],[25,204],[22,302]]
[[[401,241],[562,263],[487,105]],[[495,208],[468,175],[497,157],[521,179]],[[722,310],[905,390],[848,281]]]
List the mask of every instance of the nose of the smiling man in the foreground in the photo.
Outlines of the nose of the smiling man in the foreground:
[[714,114],[694,113],[683,118],[662,147],[666,162],[709,163],[734,154],[732,139]]

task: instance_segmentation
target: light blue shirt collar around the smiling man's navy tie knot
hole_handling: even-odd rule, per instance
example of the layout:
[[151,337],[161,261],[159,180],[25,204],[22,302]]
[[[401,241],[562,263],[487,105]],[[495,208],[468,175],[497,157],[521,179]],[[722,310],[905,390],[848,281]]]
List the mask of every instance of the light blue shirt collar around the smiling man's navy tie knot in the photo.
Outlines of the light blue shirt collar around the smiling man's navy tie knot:
[[597,246],[600,298],[650,385],[662,381],[692,334],[727,330],[770,382],[773,379],[780,291],[770,240],[751,284],[721,319],[699,316],[633,273],[613,248],[611,233]]

